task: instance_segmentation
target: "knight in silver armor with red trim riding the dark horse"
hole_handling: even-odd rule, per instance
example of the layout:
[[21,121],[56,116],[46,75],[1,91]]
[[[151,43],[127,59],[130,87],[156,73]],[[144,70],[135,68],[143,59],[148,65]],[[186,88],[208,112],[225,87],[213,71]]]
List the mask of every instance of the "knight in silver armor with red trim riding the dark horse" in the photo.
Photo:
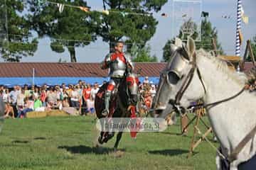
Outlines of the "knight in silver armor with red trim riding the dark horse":
[[134,66],[129,55],[123,52],[124,42],[117,42],[114,45],[114,52],[105,57],[101,64],[102,69],[110,69],[110,82],[105,92],[105,110],[102,115],[107,116],[110,113],[110,97],[114,88],[125,78],[127,72],[132,72]]

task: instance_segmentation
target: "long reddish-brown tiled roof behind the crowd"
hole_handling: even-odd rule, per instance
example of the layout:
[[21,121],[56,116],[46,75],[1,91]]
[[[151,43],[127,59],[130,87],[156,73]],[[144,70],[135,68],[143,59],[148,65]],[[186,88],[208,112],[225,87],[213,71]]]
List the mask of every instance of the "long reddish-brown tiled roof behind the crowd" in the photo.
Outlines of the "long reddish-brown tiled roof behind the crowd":
[[[142,69],[141,77],[159,77],[166,62],[135,63],[135,71]],[[100,69],[100,63],[57,62],[2,62],[0,77],[107,77],[108,70]]]

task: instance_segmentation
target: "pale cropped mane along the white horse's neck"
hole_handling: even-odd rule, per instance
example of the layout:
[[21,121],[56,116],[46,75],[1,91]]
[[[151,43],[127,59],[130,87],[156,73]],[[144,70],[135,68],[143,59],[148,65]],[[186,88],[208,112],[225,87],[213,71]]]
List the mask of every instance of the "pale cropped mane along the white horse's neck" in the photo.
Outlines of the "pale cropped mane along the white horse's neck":
[[216,69],[220,70],[221,72],[227,74],[229,79],[232,79],[233,81],[237,82],[240,85],[245,85],[247,82],[247,77],[245,74],[240,72],[238,74],[237,72],[234,72],[233,70],[228,68],[227,62],[220,60],[218,57],[215,57],[210,54],[210,52],[206,52],[203,49],[196,51],[197,57],[207,57],[211,62],[213,62],[216,66]]

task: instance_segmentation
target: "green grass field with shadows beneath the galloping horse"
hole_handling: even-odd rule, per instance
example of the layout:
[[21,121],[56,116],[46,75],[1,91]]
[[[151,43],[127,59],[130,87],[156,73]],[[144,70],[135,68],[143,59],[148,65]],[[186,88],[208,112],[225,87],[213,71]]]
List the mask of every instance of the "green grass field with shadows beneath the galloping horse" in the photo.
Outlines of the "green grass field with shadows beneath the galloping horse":
[[193,129],[188,136],[179,132],[173,125],[139,133],[136,140],[126,132],[119,144],[122,157],[116,157],[115,137],[95,148],[98,132],[91,117],[8,119],[0,134],[0,169],[216,169],[215,150],[207,142],[187,159]]

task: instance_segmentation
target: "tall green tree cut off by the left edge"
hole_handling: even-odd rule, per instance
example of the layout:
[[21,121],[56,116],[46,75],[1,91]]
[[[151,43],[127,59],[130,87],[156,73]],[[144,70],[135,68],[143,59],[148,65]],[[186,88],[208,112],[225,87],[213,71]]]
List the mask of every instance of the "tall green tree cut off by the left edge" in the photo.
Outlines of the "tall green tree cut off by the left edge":
[[0,0],[0,52],[6,62],[19,62],[37,50],[38,40],[31,38],[28,18],[21,15],[25,8],[21,0]]

